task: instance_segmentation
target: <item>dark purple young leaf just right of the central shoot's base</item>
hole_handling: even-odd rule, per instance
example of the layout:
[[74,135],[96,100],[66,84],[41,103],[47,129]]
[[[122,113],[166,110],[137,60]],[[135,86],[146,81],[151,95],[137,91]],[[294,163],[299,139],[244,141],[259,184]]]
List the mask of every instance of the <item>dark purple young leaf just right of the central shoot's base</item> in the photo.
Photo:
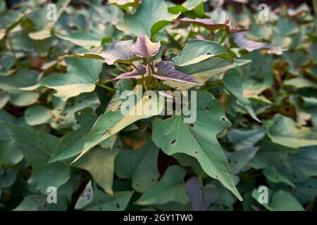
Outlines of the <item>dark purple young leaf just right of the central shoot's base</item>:
[[159,62],[158,69],[158,74],[153,75],[158,79],[173,80],[175,82],[185,82],[187,84],[202,85],[200,82],[197,82],[196,79],[190,77],[189,75],[178,70],[175,70],[174,63],[170,61]]

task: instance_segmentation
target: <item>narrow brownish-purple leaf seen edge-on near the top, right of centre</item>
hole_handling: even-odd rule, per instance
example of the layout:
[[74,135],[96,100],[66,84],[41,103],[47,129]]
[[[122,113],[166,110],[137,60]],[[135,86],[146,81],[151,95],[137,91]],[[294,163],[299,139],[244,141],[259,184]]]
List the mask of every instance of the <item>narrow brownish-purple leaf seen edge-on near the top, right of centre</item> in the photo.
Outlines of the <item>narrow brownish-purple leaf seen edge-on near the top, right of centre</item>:
[[227,20],[226,23],[215,23],[215,21],[212,20],[212,19],[182,18],[180,21],[184,22],[184,23],[192,23],[192,24],[195,24],[195,25],[199,25],[199,26],[204,27],[207,30],[211,30],[211,31],[214,31],[214,30],[226,30],[226,31],[230,32],[231,34],[237,33],[237,32],[245,32],[245,31],[247,31],[247,29],[231,27],[230,23],[229,23],[229,20]]

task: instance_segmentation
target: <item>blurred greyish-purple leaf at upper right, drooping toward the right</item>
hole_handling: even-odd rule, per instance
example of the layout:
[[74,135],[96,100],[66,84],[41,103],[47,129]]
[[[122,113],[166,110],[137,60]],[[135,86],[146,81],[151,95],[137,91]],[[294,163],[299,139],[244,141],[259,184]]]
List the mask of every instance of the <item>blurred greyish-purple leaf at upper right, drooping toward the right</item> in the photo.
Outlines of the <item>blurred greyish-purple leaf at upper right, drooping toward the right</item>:
[[251,41],[247,38],[247,34],[244,33],[234,34],[233,41],[235,42],[235,44],[237,44],[237,46],[242,49],[246,49],[247,51],[254,51],[256,49],[268,49],[268,53],[282,55],[282,52],[287,50],[282,49],[278,46],[273,46],[266,42]]

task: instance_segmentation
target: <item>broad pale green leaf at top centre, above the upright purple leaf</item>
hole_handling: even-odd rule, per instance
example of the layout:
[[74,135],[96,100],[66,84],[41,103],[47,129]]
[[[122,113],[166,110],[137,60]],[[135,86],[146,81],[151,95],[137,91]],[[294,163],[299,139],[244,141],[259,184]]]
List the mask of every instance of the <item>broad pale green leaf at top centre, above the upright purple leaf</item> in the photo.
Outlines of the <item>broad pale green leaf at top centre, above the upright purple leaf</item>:
[[144,0],[137,13],[125,15],[123,21],[119,21],[116,27],[118,30],[135,36],[147,34],[147,36],[153,37],[177,17],[178,15],[168,13],[165,1]]

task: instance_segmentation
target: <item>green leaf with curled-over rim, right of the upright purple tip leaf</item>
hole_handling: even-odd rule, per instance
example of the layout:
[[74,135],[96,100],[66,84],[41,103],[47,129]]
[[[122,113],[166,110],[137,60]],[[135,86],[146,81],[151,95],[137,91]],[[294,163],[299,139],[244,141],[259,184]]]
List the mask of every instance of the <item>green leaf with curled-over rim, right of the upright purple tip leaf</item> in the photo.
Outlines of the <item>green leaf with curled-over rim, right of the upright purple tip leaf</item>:
[[202,60],[218,56],[232,62],[232,57],[224,46],[214,41],[189,39],[184,49],[172,61],[175,65],[185,66],[199,63]]

